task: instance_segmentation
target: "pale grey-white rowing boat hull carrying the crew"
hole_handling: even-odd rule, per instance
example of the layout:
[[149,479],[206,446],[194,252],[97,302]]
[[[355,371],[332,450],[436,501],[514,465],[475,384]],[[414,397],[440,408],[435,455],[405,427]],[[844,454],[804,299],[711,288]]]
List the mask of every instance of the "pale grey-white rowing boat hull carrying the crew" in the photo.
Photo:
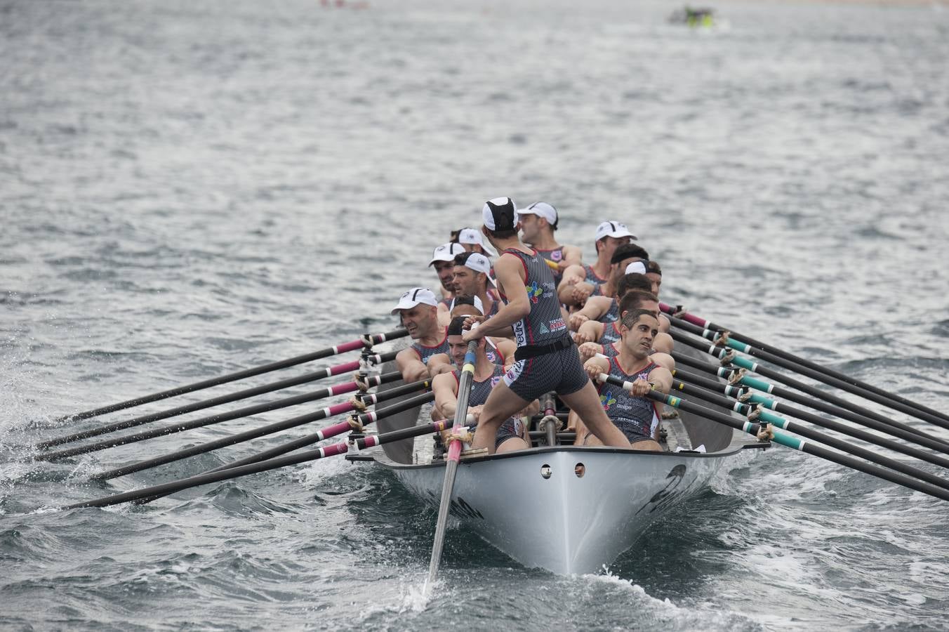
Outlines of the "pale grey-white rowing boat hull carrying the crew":
[[[388,418],[380,431],[415,425],[418,415],[414,409]],[[684,411],[664,419],[663,426],[668,451],[661,453],[560,445],[463,458],[451,511],[463,532],[525,567],[597,572],[664,512],[700,492],[726,460],[768,445]],[[368,460],[394,474],[437,507],[444,461],[432,462],[411,441],[381,447],[351,460]]]

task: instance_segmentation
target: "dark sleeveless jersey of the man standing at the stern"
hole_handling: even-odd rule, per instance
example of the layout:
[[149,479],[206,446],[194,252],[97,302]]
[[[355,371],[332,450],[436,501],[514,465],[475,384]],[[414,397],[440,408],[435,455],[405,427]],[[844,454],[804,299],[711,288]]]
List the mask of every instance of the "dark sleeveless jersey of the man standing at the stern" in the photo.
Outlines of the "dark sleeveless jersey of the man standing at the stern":
[[530,314],[513,325],[517,346],[550,344],[566,336],[567,323],[560,313],[560,301],[557,299],[553,274],[544,263],[543,257],[537,251],[533,254],[514,249],[504,252],[521,260],[527,279],[524,290],[528,293]]

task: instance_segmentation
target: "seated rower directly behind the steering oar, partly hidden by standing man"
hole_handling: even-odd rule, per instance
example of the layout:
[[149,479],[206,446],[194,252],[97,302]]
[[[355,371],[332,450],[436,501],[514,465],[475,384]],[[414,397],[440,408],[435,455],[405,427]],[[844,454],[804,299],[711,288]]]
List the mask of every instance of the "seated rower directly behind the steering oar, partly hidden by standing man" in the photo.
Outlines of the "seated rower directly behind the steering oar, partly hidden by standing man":
[[[432,380],[432,393],[435,394],[435,407],[432,409],[433,419],[455,418],[459,375],[468,348],[468,343],[461,338],[464,323],[465,317],[457,316],[448,325],[448,347],[451,350],[456,369],[451,373],[437,375]],[[480,417],[483,404],[488,400],[494,385],[499,383],[504,376],[504,366],[492,362],[486,351],[487,344],[482,338],[474,349],[474,376],[472,392],[468,400],[468,414],[474,417],[475,422]],[[524,412],[524,414],[530,417],[531,414],[537,412],[536,409],[539,408],[539,404],[528,406],[528,408],[530,410]],[[526,428],[519,418],[507,418],[494,436],[494,450],[500,453],[530,448],[530,443],[524,438],[526,436]]]

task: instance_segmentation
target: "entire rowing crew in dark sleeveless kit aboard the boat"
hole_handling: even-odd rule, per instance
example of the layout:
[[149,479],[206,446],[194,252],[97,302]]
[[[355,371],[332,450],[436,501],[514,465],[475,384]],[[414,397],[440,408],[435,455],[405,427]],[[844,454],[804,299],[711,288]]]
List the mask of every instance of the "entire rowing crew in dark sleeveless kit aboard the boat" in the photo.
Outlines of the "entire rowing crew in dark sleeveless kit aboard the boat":
[[[465,348],[477,341],[469,397],[474,449],[529,447],[518,418],[555,392],[571,410],[578,444],[661,450],[658,409],[644,397],[651,389],[668,393],[672,384],[672,341],[661,333],[668,322],[656,295],[661,269],[618,222],[600,225],[597,261],[585,266],[579,249],[553,239],[557,221],[546,202],[519,211],[510,197],[494,198],[482,208],[480,230],[499,253],[493,268],[472,229],[458,232],[464,245],[436,249],[430,265],[437,264],[447,295],[439,301],[430,289],[413,288],[392,310],[414,341],[396,358],[402,377],[432,377],[433,415],[451,418]],[[600,373],[631,382],[631,390],[595,387],[590,377]]]

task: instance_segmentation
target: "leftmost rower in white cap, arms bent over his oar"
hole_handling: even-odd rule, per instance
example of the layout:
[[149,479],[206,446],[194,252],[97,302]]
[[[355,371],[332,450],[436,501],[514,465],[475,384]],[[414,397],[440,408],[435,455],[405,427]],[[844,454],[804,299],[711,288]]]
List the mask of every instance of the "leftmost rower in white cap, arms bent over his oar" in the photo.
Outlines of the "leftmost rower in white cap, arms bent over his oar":
[[405,382],[426,380],[452,370],[446,360],[429,362],[437,354],[448,353],[448,333],[438,325],[437,303],[431,289],[412,288],[401,295],[399,305],[392,309],[415,341],[396,354],[396,367]]

